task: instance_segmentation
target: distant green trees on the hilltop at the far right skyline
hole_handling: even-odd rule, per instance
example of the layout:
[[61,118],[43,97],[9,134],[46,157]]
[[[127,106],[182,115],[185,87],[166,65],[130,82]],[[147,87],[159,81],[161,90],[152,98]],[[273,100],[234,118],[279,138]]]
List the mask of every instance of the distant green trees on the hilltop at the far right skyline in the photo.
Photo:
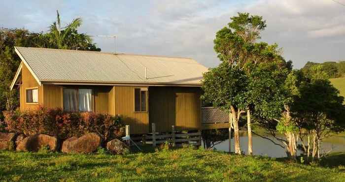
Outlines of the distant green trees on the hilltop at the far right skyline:
[[345,61],[326,61],[323,63],[308,61],[301,70],[308,74],[313,65],[322,65],[322,70],[327,73],[329,78],[345,77]]

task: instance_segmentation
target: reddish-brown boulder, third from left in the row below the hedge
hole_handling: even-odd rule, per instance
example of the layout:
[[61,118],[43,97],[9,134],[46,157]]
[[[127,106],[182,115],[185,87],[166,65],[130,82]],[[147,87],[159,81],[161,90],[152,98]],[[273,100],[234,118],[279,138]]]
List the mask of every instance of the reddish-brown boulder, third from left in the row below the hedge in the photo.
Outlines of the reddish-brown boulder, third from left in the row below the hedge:
[[72,137],[62,143],[62,152],[91,153],[101,146],[102,138],[96,133],[89,133],[80,138]]

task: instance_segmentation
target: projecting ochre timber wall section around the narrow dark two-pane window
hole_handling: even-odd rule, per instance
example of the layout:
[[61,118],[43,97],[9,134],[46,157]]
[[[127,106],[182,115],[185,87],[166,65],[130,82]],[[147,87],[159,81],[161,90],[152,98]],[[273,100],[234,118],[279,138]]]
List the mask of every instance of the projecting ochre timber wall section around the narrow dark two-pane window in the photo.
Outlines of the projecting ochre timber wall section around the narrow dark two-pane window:
[[134,111],[135,88],[147,87],[115,86],[115,115],[120,115],[121,120],[131,126],[131,134],[148,133],[148,112]]

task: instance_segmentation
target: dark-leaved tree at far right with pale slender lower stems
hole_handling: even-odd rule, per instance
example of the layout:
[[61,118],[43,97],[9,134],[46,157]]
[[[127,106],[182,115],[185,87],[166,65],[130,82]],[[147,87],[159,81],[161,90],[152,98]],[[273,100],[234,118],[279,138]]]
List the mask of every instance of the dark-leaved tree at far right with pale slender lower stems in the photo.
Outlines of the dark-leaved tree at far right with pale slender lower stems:
[[[345,129],[342,123],[345,106],[344,97],[327,79],[322,66],[314,65],[311,70],[300,85],[301,96],[296,98],[292,111],[299,123],[302,149],[308,159],[314,160],[321,157],[320,144],[323,138],[331,132]],[[304,137],[308,138],[307,144]]]

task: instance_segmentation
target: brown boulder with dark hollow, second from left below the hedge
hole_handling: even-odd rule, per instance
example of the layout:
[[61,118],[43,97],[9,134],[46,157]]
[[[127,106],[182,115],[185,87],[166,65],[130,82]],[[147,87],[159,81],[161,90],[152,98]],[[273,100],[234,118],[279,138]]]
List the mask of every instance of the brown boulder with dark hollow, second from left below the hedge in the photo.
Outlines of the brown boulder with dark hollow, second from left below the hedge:
[[58,140],[45,134],[35,134],[21,140],[17,151],[37,152],[41,147],[48,146],[50,151],[56,151]]

